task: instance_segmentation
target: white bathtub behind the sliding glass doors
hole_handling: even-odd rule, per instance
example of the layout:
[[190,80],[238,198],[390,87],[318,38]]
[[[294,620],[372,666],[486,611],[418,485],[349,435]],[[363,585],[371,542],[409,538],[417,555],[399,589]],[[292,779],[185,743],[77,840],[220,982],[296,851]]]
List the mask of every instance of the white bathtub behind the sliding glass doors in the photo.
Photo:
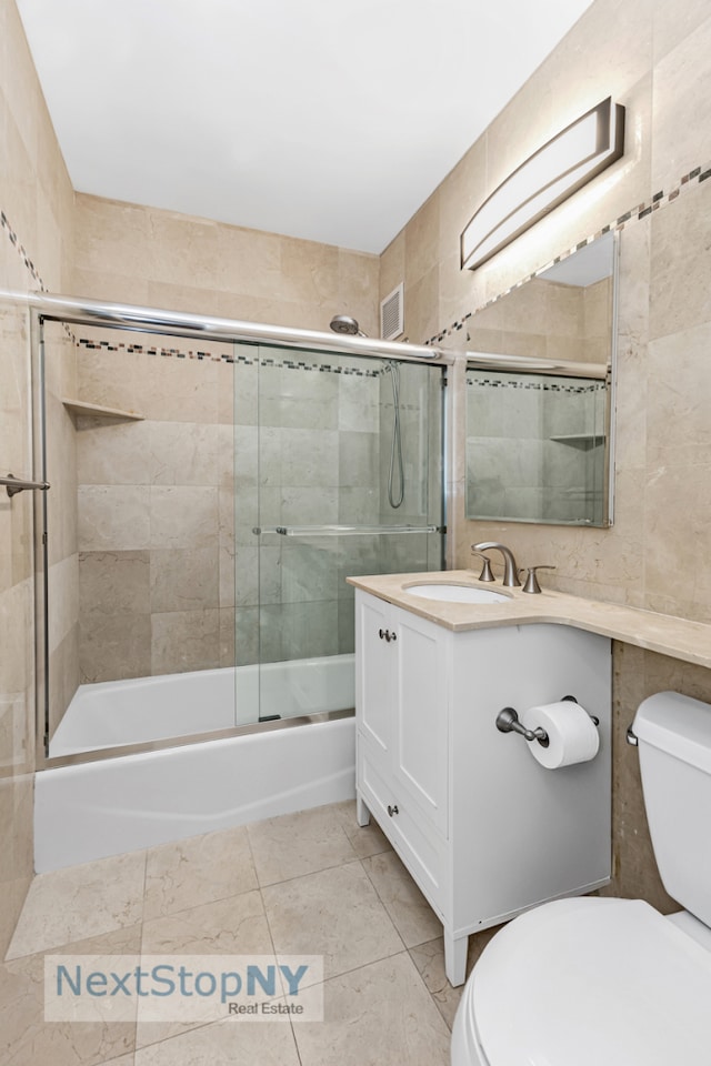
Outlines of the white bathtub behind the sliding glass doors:
[[[287,690],[290,694],[288,704],[280,703],[280,710],[274,711],[282,714],[282,721],[244,724],[243,732],[219,740],[39,771],[34,784],[37,873],[352,798],[356,794],[353,716],[348,713],[328,717],[321,714],[320,718],[303,723],[293,717],[307,713],[304,701],[309,695],[328,701],[329,685],[332,696],[334,691],[340,691],[344,697],[350,692],[352,707],[352,656],[336,658],[340,663],[328,660],[321,664],[340,667],[332,671],[334,676],[330,678],[328,672],[318,677],[313,660],[301,661],[301,671],[297,663],[270,664],[273,666],[269,671],[273,692],[280,694],[280,698]],[[279,666],[286,668],[280,671]],[[238,667],[237,675],[231,670],[202,672],[204,685],[201,694],[196,675],[117,682],[117,702],[126,714],[121,721],[127,727],[118,742],[114,736],[117,715],[110,714],[110,686],[87,686],[100,687],[97,693],[100,698],[94,707],[97,722],[90,722],[91,714],[83,698],[86,693],[81,694],[78,702],[81,710],[74,724],[66,716],[66,740],[60,737],[64,754],[70,742],[77,744],[74,752],[93,748],[100,740],[104,743],[98,746],[104,747],[136,744],[136,735],[128,735],[129,723],[131,728],[140,724],[141,735],[148,738],[151,730],[154,732],[159,727],[157,723],[164,715],[166,707],[172,723],[182,721],[183,702],[179,708],[171,705],[181,682],[187,682],[183,684],[183,695],[188,694],[184,703],[199,712],[200,731],[206,728],[206,708],[210,708],[210,714],[217,714],[213,704],[221,703],[228,692],[230,698],[222,705],[222,713],[227,713],[228,725],[233,726],[231,693],[237,685],[239,694],[239,670],[244,668]],[[336,675],[339,674],[337,682]],[[290,682],[287,681],[289,677]],[[244,683],[253,685],[254,678]],[[333,685],[337,685],[336,690]],[[147,705],[143,701],[149,696]],[[320,705],[317,703],[316,706]],[[161,708],[160,714],[158,708]],[[290,715],[284,716],[289,708]],[[336,710],[328,707],[329,712]],[[262,715],[264,713],[262,702]],[[148,720],[152,720],[152,725],[147,724]],[[81,741],[79,726],[82,722],[92,728],[96,726],[88,744]],[[291,725],[293,727],[287,727]],[[222,728],[221,725],[213,727]],[[164,721],[160,728],[164,728]],[[192,726],[187,722],[183,735],[194,732],[194,722]],[[174,737],[178,734],[172,728],[170,734],[159,735]],[[83,741],[87,740],[84,736]],[[52,745],[50,754],[57,752]]]

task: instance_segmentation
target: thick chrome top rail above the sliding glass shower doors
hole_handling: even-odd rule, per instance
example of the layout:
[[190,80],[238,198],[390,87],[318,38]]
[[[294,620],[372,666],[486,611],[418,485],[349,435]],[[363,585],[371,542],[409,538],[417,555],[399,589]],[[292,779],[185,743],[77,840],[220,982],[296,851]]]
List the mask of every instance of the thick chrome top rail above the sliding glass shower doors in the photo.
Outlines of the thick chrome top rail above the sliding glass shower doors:
[[46,292],[12,292],[0,290],[0,301],[28,306],[42,319],[83,325],[108,325],[141,333],[162,333],[169,336],[199,336],[214,341],[246,341],[337,352],[350,355],[371,355],[379,359],[428,361],[438,365],[454,362],[452,352],[407,341],[383,341],[369,336],[346,336],[319,330],[287,329],[240,319],[222,319],[183,311],[168,311],[129,303],[104,303],[81,296],[64,296]]

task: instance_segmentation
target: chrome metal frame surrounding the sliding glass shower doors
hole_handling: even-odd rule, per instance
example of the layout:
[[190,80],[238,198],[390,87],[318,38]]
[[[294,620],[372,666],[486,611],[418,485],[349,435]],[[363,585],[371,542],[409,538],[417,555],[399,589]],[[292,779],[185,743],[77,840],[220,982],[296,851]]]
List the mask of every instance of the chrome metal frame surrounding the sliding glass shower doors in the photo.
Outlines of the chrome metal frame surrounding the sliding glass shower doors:
[[[337,355],[374,356],[398,362],[421,362],[440,371],[441,401],[441,515],[442,524],[437,532],[442,536],[442,564],[447,557],[447,472],[449,470],[449,411],[447,400],[449,368],[455,362],[452,352],[398,341],[379,341],[363,336],[343,336],[312,330],[283,329],[232,319],[218,319],[193,313],[181,313],[157,308],[122,303],[103,303],[77,296],[48,293],[2,292],[0,299],[28,308],[30,315],[30,348],[32,369],[32,433],[34,474],[46,481],[47,472],[47,420],[44,411],[44,322],[63,325],[92,325],[131,332],[162,334],[186,339],[201,339],[237,343],[240,341],[272,344],[293,350],[330,352]],[[38,469],[39,467],[39,469]],[[49,755],[49,589],[48,589],[48,529],[46,493],[34,495],[34,545],[36,545],[36,770],[71,766],[80,763],[118,758],[183,747],[206,741],[294,728],[317,722],[336,721],[353,715],[352,710],[318,712],[308,715],[249,723],[207,733],[191,733],[164,737],[138,744],[122,744],[78,752],[71,755]]]

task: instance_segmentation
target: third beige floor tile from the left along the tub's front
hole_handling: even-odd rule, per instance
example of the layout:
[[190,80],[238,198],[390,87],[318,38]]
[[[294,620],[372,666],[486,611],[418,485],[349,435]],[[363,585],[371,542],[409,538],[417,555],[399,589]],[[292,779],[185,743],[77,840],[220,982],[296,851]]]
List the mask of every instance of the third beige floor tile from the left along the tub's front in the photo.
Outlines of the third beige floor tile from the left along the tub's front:
[[358,858],[332,805],[248,826],[260,885],[273,885]]

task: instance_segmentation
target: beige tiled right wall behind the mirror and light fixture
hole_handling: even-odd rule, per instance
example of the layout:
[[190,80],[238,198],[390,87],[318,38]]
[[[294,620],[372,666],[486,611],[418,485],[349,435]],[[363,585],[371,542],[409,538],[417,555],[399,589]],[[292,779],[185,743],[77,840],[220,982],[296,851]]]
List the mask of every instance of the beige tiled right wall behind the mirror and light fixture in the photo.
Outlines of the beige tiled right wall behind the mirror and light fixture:
[[[468,522],[463,454],[450,485],[454,562],[502,540],[557,564],[550,586],[711,622],[711,12],[705,0],[597,0],[385,250],[381,294],[405,278],[412,341],[464,351],[478,309],[608,225],[620,232],[615,522],[611,530]],[[627,108],[624,158],[478,271],[459,235],[540,144],[604,97]],[[461,435],[463,371],[454,435]],[[614,889],[661,895],[637,758],[623,743],[642,695],[711,701],[708,672],[615,645]]]

